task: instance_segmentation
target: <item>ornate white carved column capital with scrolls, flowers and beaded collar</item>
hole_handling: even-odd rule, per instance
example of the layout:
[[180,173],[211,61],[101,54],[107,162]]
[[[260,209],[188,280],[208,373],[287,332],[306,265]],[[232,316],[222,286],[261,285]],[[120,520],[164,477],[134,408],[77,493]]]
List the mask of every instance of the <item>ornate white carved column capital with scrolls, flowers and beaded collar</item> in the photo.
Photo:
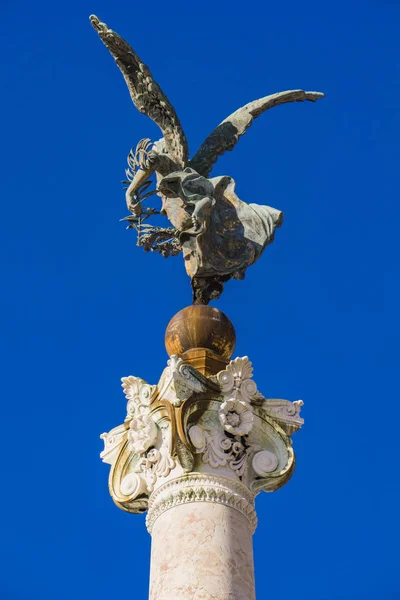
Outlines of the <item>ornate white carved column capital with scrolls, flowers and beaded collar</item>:
[[172,355],[157,385],[129,376],[122,387],[125,421],[101,435],[114,502],[148,509],[149,531],[162,512],[188,502],[236,508],[254,530],[255,495],[293,473],[290,436],[303,424],[302,401],[265,398],[246,356],[206,376]]

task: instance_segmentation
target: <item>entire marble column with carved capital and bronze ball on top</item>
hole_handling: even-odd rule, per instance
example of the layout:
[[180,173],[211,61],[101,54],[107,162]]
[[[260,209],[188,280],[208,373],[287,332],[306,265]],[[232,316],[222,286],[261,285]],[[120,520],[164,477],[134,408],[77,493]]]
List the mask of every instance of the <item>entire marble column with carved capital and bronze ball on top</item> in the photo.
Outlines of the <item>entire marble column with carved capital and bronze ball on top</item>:
[[254,499],[290,479],[303,403],[265,398],[234,345],[217,309],[178,313],[158,384],[122,378],[125,421],[101,436],[114,502],[147,511],[150,600],[255,600]]

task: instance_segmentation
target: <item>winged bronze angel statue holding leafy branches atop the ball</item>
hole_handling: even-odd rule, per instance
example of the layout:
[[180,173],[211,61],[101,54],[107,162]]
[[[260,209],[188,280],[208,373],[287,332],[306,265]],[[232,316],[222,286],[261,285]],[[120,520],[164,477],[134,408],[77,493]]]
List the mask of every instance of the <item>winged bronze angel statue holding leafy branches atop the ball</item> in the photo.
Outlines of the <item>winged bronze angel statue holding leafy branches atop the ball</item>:
[[[210,177],[218,157],[232,150],[253,119],[288,102],[315,102],[324,94],[289,90],[272,94],[239,108],[222,121],[189,158],[186,136],[175,109],[150,69],[117,33],[92,15],[90,21],[114,57],[136,108],[161,129],[162,138],[141,140],[129,153],[126,171],[126,220],[138,231],[138,245],[164,256],[182,251],[191,278],[194,304],[218,298],[224,282],[243,279],[274,239],[283,213],[270,206],[247,204],[236,195],[228,176]],[[147,191],[153,175],[156,189]],[[157,193],[161,211],[145,208],[143,201]],[[154,214],[166,215],[172,227],[151,226]]]

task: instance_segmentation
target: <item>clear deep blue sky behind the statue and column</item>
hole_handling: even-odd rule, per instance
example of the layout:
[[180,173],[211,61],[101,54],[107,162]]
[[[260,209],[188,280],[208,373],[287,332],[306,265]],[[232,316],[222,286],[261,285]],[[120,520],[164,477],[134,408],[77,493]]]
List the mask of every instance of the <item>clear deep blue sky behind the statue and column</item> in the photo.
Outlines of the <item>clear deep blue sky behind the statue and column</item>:
[[291,482],[257,498],[257,598],[400,598],[400,5],[3,0],[0,597],[147,597],[144,517],[112,503],[99,434],[120,378],[156,383],[180,257],[145,255],[119,219],[126,155],[157,127],[89,24],[129,40],[192,153],[239,106],[290,88],[317,104],[260,117],[214,175],[285,213],[215,305],[259,389],[305,402]]

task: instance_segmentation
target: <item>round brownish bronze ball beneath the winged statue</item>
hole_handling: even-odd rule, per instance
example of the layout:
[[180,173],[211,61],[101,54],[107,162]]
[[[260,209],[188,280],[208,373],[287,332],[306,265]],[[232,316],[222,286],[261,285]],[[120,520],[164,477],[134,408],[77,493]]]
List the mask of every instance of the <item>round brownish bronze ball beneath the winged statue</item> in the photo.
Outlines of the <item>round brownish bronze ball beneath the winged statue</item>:
[[[199,365],[204,363],[203,368],[212,359],[228,361],[235,343],[236,334],[231,321],[212,306],[193,305],[184,308],[172,317],[165,332],[165,347],[170,356],[177,354],[197,359]],[[204,352],[202,357],[200,349],[208,353]]]

